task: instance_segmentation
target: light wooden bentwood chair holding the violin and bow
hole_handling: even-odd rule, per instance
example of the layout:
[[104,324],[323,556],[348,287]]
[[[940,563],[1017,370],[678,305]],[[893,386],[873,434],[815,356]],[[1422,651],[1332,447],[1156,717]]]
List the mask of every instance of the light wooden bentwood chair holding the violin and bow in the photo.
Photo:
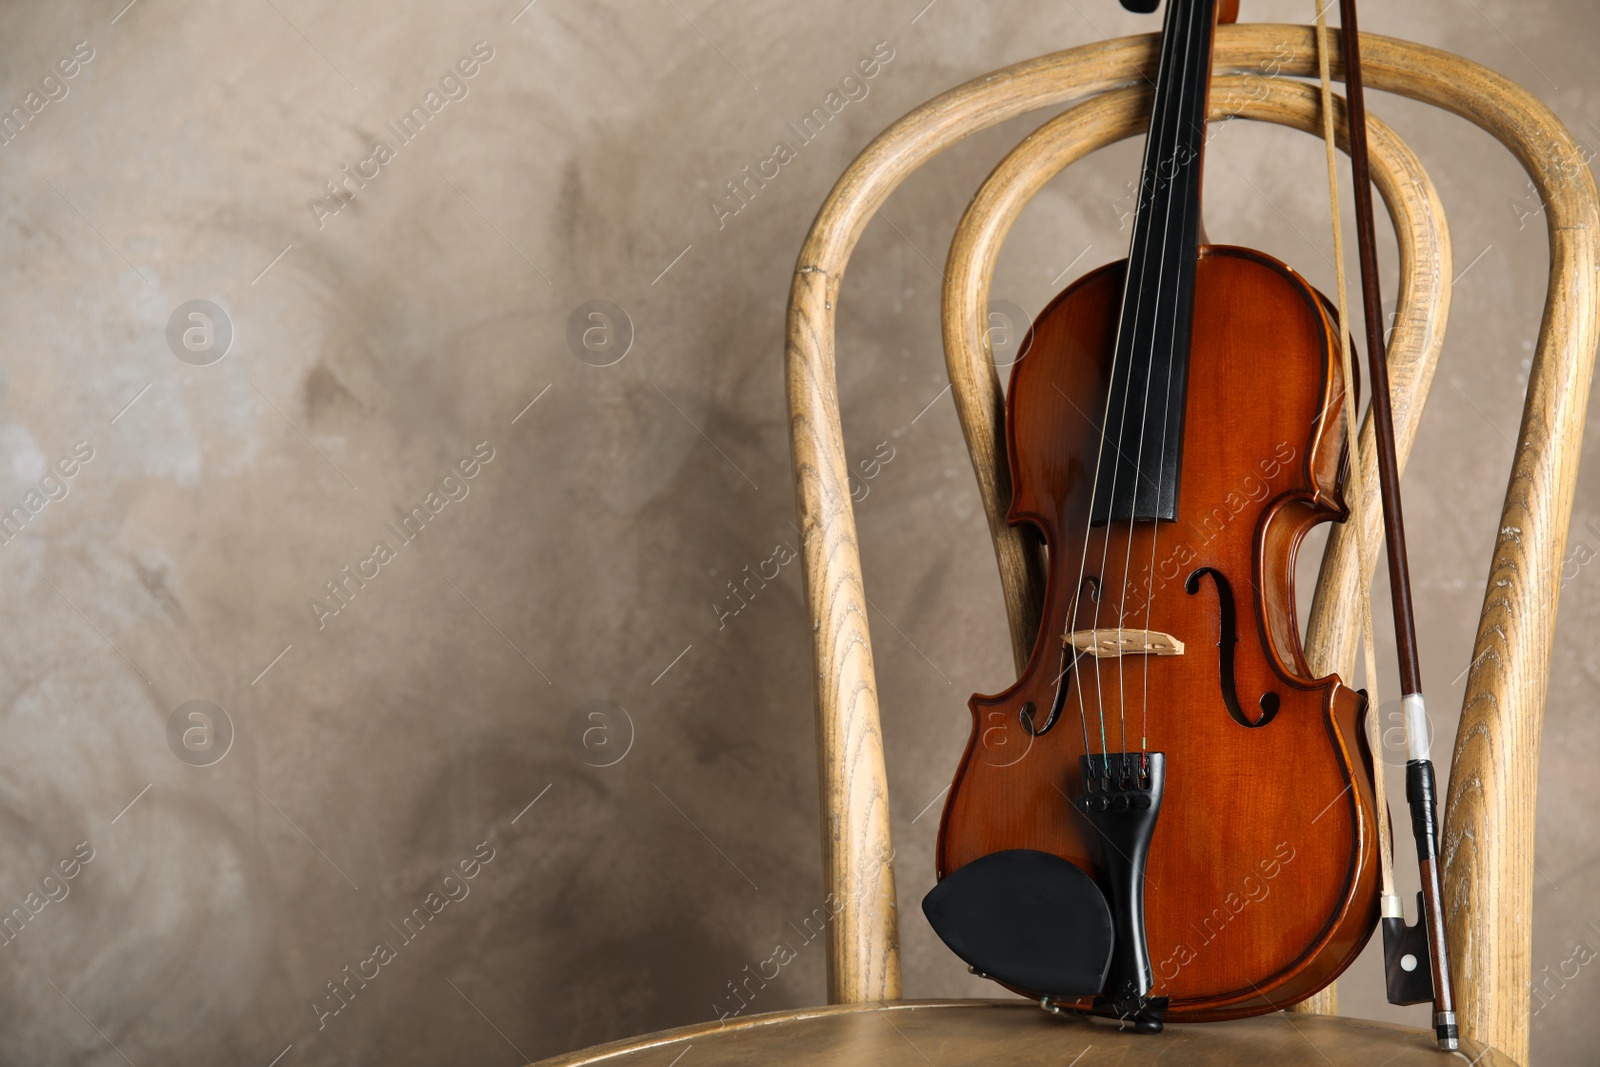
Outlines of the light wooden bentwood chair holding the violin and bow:
[[[1283,45],[1288,45],[1285,50]],[[1283,59],[1290,51],[1291,58]],[[1560,566],[1595,342],[1600,206],[1571,138],[1538,99],[1459,56],[1365,34],[1371,88],[1454,112],[1496,136],[1526,168],[1546,205],[1550,283],[1530,373],[1499,537],[1462,704],[1445,813],[1445,894],[1462,1051],[1475,1064],[1526,1062],[1533,816],[1546,673]],[[984,182],[952,243],[944,339],[955,405],[989,515],[1018,665],[1042,603],[1037,550],[1005,523],[1010,496],[998,376],[982,309],[1000,243],[1027,200],[1067,163],[1141,133],[1149,109],[1139,74],[1154,75],[1154,37],[1126,37],[1042,56],[976,78],[923,104],[880,134],[834,187],[795,267],[787,379],[794,474],[805,536],[806,603],[818,672],[816,721],[827,825],[826,881],[843,902],[829,926],[827,1008],[710,1022],[574,1053],[547,1064],[677,1062],[693,1046],[706,1064],[1438,1064],[1432,1035],[1331,1013],[1331,995],[1293,1013],[1160,1037],[1056,1019],[1021,1000],[901,1001],[894,870],[867,603],[840,434],[834,323],[850,253],[888,195],[917,166],[973,133],[1029,110],[1080,101],[1018,146]],[[1216,37],[1214,115],[1277,122],[1320,134],[1309,27],[1224,26]],[[1341,72],[1338,56],[1334,70]],[[1342,114],[1338,115],[1342,125]],[[1450,245],[1432,182],[1416,157],[1371,123],[1371,165],[1400,243],[1402,285],[1392,336],[1400,461],[1410,451],[1434,378],[1450,306]],[[1365,515],[1378,537],[1376,461],[1363,429]],[[1307,653],[1318,670],[1355,659],[1355,537],[1338,528],[1317,584]],[[1107,1054],[1110,1056],[1107,1059]]]

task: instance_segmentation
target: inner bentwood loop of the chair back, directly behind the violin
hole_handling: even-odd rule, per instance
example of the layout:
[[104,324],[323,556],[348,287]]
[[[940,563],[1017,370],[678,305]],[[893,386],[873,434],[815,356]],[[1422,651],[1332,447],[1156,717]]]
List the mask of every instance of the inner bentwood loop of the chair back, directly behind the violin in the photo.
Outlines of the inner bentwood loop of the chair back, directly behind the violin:
[[[973,470],[990,522],[1000,579],[1006,593],[1011,645],[1021,673],[1037,640],[1043,595],[1043,555],[1037,537],[1006,523],[1011,501],[1010,466],[1003,461],[1003,400],[995,363],[987,350],[989,280],[1005,237],[1027,202],[1061,170],[1118,138],[1142,131],[1147,114],[1142,86],[1112,90],[1056,115],[1018,144],[984,181],[950,240],[944,285],[946,366],[957,398],[962,430],[971,450]],[[1253,118],[1320,133],[1320,101],[1314,86],[1288,78],[1261,80],[1218,77],[1211,88],[1211,122]],[[1339,146],[1347,144],[1342,101],[1334,99]],[[1450,232],[1434,184],[1416,155],[1378,118],[1370,118],[1373,178],[1395,224],[1400,250],[1400,286],[1390,360],[1397,366],[1400,443],[1406,450],[1414,434],[1443,344],[1450,310]],[[1373,474],[1371,427],[1363,435],[1365,507],[1376,539],[1378,488]],[[1354,510],[1354,509],[1352,509]],[[1347,608],[1355,597],[1352,522],[1334,528],[1323,560],[1326,587],[1312,601],[1312,625],[1306,657],[1314,673],[1347,673],[1355,662],[1355,616]],[[1368,569],[1371,561],[1368,561]],[[1344,611],[1341,616],[1339,611]],[[1338,624],[1334,624],[1338,622]],[[1381,830],[1381,827],[1379,827]],[[1333,1013],[1336,987],[1328,985],[1299,1008]]]

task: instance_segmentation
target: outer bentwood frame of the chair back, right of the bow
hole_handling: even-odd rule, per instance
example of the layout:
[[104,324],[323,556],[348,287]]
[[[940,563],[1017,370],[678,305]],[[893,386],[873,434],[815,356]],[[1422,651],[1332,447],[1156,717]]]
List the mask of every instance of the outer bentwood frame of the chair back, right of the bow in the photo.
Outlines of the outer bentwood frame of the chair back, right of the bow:
[[[1600,336],[1600,206],[1578,146],[1531,93],[1448,53],[1387,51],[1382,62],[1395,70],[1397,91],[1494,134],[1546,205],[1549,290],[1472,645],[1443,827],[1462,1033],[1526,1062],[1539,739]],[[1365,35],[1362,59],[1368,62]]]

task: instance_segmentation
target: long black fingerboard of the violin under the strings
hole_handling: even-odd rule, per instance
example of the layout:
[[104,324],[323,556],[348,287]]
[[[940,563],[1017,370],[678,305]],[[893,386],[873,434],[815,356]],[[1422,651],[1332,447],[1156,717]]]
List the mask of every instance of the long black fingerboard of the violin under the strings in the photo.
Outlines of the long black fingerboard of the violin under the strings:
[[1218,0],[1168,0],[1093,522],[1174,520]]

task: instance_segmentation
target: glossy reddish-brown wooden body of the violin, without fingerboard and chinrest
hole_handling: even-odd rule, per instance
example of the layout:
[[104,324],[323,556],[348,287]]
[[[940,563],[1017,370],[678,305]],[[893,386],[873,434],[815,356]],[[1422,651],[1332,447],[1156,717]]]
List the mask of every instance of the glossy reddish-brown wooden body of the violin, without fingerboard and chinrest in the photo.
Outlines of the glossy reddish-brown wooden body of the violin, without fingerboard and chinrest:
[[[1160,752],[1147,992],[1173,1021],[1259,1014],[1331,982],[1378,920],[1365,699],[1312,673],[1294,603],[1301,541],[1346,514],[1338,333],[1286,266],[1202,246],[1174,518],[1094,522],[1125,272],[1109,264],[1058,296],[1013,368],[1010,522],[1048,547],[1048,589],[1022,677],[971,699],[938,875],[1034,849],[1110,896],[1107,840],[1080,809],[1083,757]],[[1064,635],[1134,627],[1182,651],[1062,654]],[[1104,1014],[1090,997],[1054,1003]]]

